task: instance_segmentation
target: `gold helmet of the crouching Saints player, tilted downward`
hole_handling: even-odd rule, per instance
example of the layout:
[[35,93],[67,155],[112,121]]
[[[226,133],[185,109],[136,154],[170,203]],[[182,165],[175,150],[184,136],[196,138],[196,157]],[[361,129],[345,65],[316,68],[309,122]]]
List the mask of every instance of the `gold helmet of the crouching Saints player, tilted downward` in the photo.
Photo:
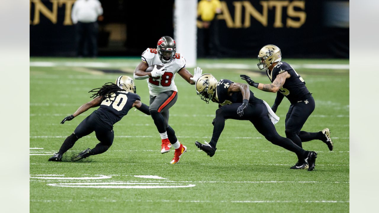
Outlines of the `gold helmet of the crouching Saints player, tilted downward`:
[[201,100],[209,103],[209,100],[211,100],[215,94],[217,80],[209,73],[203,74],[199,79],[197,79],[195,86],[196,92],[200,96]]

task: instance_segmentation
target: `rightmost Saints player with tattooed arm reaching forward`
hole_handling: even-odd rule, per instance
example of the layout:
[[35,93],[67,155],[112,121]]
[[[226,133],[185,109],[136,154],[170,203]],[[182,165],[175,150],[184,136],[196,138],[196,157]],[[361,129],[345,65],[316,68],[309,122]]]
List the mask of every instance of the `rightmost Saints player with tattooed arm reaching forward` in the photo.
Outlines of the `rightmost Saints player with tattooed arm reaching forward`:
[[[266,92],[277,93],[274,105],[271,107],[274,112],[276,112],[284,96],[291,102],[285,118],[285,134],[287,138],[291,139],[299,147],[302,147],[302,142],[318,139],[326,143],[329,150],[332,151],[333,142],[328,128],[319,132],[300,131],[315,109],[315,100],[305,86],[303,78],[290,64],[281,61],[282,54],[279,47],[275,45],[264,46],[259,51],[258,59],[260,60],[260,63],[257,64],[259,69],[266,68],[266,74],[271,84],[256,83],[247,75],[240,76],[251,86]],[[299,161],[291,169],[306,169],[307,167],[307,162],[299,158]]]

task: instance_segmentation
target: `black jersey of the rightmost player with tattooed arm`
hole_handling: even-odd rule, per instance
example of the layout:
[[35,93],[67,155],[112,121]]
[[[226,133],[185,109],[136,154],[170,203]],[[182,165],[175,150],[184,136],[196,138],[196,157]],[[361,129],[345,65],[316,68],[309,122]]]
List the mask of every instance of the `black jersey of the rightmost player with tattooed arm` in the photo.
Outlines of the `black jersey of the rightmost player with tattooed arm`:
[[271,83],[275,80],[276,76],[282,72],[288,72],[291,77],[285,80],[284,85],[279,89],[278,92],[287,97],[291,103],[296,103],[299,100],[303,100],[310,95],[307,87],[305,86],[305,81],[303,78],[291,67],[290,64],[282,61],[276,64],[271,72],[269,69],[266,70],[268,78]]

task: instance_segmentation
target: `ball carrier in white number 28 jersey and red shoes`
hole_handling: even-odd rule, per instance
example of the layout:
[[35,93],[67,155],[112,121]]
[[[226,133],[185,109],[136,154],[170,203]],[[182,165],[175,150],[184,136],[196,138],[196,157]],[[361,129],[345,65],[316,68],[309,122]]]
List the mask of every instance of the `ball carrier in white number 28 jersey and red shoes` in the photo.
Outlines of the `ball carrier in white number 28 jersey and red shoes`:
[[[155,66],[151,72],[145,72],[147,67],[152,65],[163,67],[157,69]],[[162,139],[161,153],[169,152],[171,144],[174,146],[175,153],[171,164],[177,163],[187,150],[187,147],[178,141],[174,130],[168,125],[169,108],[174,105],[178,97],[178,89],[174,83],[175,74],[178,73],[188,83],[194,85],[202,72],[200,67],[197,67],[194,75],[191,75],[185,67],[186,60],[176,53],[174,39],[163,36],[158,40],[157,49],[147,48],[142,53],[142,61],[134,70],[136,80],[147,79],[150,92],[149,111]]]

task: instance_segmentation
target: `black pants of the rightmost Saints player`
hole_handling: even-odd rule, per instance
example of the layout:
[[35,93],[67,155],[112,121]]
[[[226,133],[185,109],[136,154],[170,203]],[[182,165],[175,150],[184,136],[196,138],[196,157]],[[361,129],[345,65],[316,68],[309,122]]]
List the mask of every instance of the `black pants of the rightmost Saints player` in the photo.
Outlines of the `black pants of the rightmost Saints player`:
[[285,118],[285,135],[299,147],[302,147],[302,142],[323,139],[321,132],[300,131],[313,110],[315,110],[315,100],[312,96],[291,104],[288,110]]

